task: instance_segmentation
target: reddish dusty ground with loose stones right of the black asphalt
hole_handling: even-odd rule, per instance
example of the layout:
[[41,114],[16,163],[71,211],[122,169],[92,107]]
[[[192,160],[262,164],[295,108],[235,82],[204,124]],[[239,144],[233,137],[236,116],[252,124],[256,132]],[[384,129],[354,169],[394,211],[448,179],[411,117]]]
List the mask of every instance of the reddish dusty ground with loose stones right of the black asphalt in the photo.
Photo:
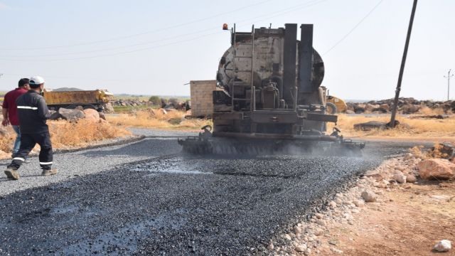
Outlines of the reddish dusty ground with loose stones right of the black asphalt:
[[[397,183],[397,173],[416,175],[420,159],[396,157],[337,193],[326,208],[297,223],[279,255],[432,255],[440,240],[455,240],[455,182]],[[373,203],[361,193],[372,191]],[[303,248],[303,249],[301,249]],[[309,248],[309,250],[306,250]],[[455,250],[444,252],[455,255]]]

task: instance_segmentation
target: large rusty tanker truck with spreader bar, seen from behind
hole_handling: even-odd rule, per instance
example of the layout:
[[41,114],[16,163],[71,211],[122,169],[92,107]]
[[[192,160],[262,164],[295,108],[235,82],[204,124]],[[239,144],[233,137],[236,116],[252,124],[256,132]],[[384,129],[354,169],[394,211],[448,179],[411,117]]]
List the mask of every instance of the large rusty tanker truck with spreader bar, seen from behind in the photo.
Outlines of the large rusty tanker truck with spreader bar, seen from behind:
[[218,65],[213,91],[213,130],[179,139],[183,151],[215,154],[270,154],[322,151],[359,154],[362,142],[344,139],[327,122],[324,64],[313,48],[312,24],[284,28],[231,29],[231,46]]

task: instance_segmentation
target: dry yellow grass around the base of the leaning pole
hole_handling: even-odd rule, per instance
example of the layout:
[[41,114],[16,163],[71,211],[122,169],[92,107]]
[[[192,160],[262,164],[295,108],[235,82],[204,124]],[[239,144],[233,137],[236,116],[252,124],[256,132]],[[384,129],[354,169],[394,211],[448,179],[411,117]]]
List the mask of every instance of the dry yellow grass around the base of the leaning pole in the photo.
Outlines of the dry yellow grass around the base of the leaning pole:
[[[379,121],[389,122],[390,117],[368,117],[338,115],[337,127],[346,137],[427,137],[427,138],[452,138],[455,139],[455,117],[446,119],[410,119],[397,117],[402,125],[395,129],[373,129],[371,131],[354,130],[354,124]],[[328,126],[331,130],[333,124]]]

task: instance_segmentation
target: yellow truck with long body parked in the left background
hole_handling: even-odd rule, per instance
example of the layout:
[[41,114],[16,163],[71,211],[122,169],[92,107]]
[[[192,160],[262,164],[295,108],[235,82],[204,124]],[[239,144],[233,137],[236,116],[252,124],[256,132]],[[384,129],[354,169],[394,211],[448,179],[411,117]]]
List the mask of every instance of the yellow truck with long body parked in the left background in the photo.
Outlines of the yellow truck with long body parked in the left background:
[[58,110],[60,107],[71,109],[80,106],[84,109],[91,108],[101,112],[114,100],[114,95],[107,90],[45,90],[43,97],[49,109],[52,110]]

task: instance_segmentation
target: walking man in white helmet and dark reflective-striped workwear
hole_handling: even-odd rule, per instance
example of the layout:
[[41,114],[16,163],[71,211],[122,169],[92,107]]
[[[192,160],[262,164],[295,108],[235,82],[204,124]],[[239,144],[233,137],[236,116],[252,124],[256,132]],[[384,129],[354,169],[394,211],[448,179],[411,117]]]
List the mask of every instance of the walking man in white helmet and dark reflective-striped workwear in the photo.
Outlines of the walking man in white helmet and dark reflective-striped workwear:
[[5,171],[6,176],[14,180],[19,178],[17,170],[37,143],[41,146],[39,160],[41,169],[43,169],[42,175],[53,175],[58,172],[51,168],[53,151],[52,144],[50,144],[49,127],[45,123],[46,119],[50,117],[50,113],[43,96],[40,95],[44,88],[44,79],[34,76],[30,78],[29,85],[30,90],[16,100],[18,119],[21,124],[19,126],[21,146]]

